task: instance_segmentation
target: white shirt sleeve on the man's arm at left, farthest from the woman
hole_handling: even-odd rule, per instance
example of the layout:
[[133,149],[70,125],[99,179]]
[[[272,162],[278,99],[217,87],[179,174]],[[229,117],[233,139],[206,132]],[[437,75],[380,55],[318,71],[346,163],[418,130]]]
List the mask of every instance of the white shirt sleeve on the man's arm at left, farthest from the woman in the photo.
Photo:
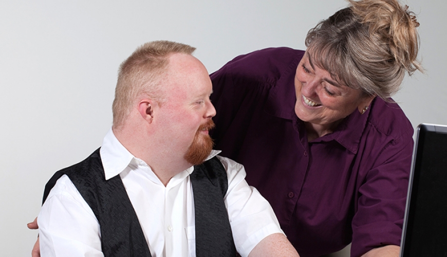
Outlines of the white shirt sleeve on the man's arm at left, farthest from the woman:
[[51,189],[38,224],[43,257],[104,256],[97,218],[67,175]]

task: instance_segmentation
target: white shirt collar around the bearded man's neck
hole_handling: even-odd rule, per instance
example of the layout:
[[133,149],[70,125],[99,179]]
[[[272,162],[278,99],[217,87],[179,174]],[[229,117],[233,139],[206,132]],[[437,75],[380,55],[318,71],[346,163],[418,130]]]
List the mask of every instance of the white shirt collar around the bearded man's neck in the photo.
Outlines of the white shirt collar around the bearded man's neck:
[[[206,160],[218,155],[221,151],[212,150]],[[104,168],[105,179],[115,177],[131,164],[132,161],[136,163],[144,163],[143,160],[136,158],[118,141],[113,133],[113,130],[107,132],[102,142],[100,149],[102,166]],[[194,166],[186,170],[189,174],[194,171]]]

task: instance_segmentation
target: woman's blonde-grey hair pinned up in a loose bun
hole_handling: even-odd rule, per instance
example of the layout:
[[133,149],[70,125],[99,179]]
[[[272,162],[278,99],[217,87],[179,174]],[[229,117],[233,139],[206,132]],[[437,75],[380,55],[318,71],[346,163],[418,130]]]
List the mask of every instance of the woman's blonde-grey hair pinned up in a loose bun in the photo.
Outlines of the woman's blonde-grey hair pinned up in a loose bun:
[[312,61],[333,79],[389,101],[417,61],[419,23],[397,0],[348,0],[306,36]]

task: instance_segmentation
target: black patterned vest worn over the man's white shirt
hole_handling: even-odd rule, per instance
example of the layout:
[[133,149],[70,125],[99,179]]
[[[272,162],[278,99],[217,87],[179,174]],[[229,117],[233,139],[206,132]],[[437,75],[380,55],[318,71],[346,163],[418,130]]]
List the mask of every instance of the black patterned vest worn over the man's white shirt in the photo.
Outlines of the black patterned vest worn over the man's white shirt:
[[[43,202],[64,174],[98,219],[105,257],[151,256],[120,176],[105,180],[99,149],[80,163],[56,172],[45,186]],[[235,256],[236,249],[224,204],[228,179],[222,163],[214,157],[194,166],[190,176],[195,205],[196,256]]]

